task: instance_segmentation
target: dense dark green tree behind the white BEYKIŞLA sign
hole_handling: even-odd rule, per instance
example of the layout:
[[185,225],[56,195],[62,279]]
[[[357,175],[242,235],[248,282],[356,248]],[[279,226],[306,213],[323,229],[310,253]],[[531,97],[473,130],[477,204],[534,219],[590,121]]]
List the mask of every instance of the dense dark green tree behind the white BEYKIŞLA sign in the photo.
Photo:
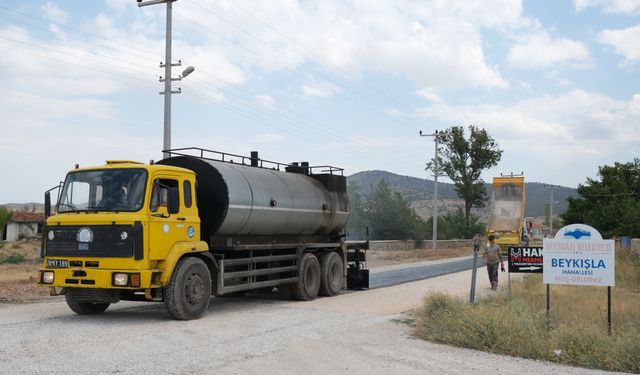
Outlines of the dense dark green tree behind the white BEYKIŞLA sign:
[[598,168],[598,178],[578,185],[561,215],[565,224],[583,223],[605,237],[640,237],[640,159]]

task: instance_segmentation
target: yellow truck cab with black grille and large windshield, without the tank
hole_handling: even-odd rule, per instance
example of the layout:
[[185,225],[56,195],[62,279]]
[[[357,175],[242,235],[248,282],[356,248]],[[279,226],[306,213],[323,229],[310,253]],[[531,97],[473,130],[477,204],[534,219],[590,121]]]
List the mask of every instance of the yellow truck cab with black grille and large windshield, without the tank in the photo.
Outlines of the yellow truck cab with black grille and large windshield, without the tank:
[[107,161],[67,174],[43,231],[38,283],[77,313],[100,313],[120,299],[161,300],[177,259],[206,250],[192,171]]

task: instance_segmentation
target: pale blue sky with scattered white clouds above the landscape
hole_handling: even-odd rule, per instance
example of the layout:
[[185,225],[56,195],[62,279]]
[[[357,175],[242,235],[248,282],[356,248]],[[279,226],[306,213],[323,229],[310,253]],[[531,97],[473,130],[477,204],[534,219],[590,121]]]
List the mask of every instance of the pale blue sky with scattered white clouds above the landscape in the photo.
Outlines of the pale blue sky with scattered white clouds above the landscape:
[[[432,178],[486,129],[482,178],[576,187],[640,152],[640,0],[179,0],[172,147]],[[162,158],[166,5],[0,0],[0,203],[74,164]],[[441,179],[449,182],[446,178]]]

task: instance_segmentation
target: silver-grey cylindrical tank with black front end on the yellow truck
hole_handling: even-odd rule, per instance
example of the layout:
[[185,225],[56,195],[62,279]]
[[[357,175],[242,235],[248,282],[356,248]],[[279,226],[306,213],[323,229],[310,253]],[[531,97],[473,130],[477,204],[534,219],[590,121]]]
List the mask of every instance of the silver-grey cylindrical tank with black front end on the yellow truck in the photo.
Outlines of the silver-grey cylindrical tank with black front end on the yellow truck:
[[[197,175],[202,239],[235,236],[338,235],[346,226],[349,201],[343,176],[306,175],[188,156],[159,164]],[[322,178],[316,178],[320,176]],[[324,181],[325,183],[323,184]],[[327,185],[327,186],[325,186]],[[333,186],[332,186],[333,185]]]

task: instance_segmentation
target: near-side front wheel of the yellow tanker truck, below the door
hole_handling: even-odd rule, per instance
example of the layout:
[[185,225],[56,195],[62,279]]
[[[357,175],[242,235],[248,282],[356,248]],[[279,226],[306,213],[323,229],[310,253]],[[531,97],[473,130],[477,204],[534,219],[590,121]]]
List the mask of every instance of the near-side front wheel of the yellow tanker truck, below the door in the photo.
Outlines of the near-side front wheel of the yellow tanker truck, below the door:
[[211,300],[211,274],[207,265],[195,257],[180,260],[164,293],[164,304],[172,318],[199,318]]

